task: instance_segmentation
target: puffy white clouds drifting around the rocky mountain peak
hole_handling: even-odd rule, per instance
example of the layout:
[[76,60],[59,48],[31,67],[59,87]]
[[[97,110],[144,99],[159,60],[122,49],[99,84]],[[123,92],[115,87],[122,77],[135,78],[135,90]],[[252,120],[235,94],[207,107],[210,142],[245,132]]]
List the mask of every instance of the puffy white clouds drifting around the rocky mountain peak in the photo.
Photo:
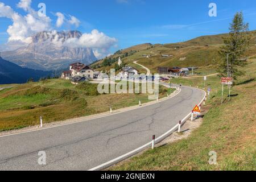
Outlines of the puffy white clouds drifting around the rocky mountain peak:
[[[31,0],[21,0],[17,7],[23,9],[27,12],[26,15],[20,15],[16,13],[10,6],[6,6],[4,3],[0,2],[0,18],[5,17],[13,21],[8,29],[9,34],[8,43],[5,44],[5,49],[16,49],[22,46],[26,46],[32,42],[32,35],[48,31],[49,36],[51,36],[52,43],[56,46],[69,46],[69,47],[86,47],[92,48],[96,57],[101,58],[109,54],[109,49],[117,44],[117,39],[110,38],[103,32],[98,30],[92,30],[89,34],[82,34],[81,37],[71,38],[64,42],[56,36],[57,31],[52,28],[52,20],[48,16],[39,16],[38,12],[31,8]],[[56,13],[56,27],[61,27],[63,24],[71,24],[73,26],[79,27],[80,20],[75,16],[69,15],[66,18],[63,13]]]

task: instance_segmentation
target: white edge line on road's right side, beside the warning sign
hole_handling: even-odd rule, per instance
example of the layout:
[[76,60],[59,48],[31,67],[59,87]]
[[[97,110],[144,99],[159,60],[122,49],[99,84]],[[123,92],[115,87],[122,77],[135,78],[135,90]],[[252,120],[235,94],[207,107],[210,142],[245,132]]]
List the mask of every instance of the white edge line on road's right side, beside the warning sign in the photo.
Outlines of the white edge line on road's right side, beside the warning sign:
[[[199,90],[202,90],[202,89],[199,89]],[[204,91],[204,90],[203,90],[203,91]],[[202,100],[198,105],[202,104],[203,101],[204,101],[204,99],[205,99],[205,97],[207,96],[207,93],[206,93],[205,91],[204,91],[204,93],[205,93],[204,98],[203,98],[203,100]],[[184,123],[185,121],[187,121],[187,119],[188,119],[190,116],[191,116],[191,112],[181,121],[181,124]],[[168,137],[170,134],[174,133],[174,131],[177,130],[177,127],[179,127],[179,123],[178,123],[176,126],[174,126],[171,130],[167,131],[165,134],[163,134],[163,135],[161,135],[160,137],[156,138],[156,139],[155,139],[155,143],[157,143],[158,140],[161,140],[161,139],[163,139],[163,138],[166,138],[166,137]],[[109,162],[106,162],[106,163],[104,163],[104,164],[101,164],[100,166],[97,166],[97,167],[94,167],[94,168],[92,168],[92,169],[89,169],[88,171],[96,171],[96,170],[99,170],[99,169],[103,169],[103,168],[105,168],[105,167],[109,167],[109,166],[113,165],[113,164],[116,163],[116,162],[119,162],[119,161],[121,161],[121,160],[126,159],[128,156],[137,154],[137,153],[138,153],[139,151],[141,151],[143,148],[146,148],[146,147],[151,146],[151,144],[152,144],[152,142],[149,142],[149,143],[147,143],[147,144],[144,144],[144,146],[141,146],[141,147],[139,147],[139,148],[136,148],[135,150],[130,151],[130,152],[128,152],[127,154],[124,154],[124,155],[122,155],[122,156],[119,156],[118,158],[115,158],[115,159],[113,159],[113,160],[110,160]]]

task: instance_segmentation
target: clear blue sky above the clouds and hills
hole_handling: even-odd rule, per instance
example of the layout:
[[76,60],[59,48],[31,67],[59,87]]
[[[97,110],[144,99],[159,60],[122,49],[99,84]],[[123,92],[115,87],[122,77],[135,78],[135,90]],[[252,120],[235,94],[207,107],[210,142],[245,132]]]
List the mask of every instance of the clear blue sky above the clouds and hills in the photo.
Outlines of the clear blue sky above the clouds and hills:
[[[20,15],[18,0],[0,0]],[[38,4],[46,4],[46,13],[56,23],[57,12],[73,15],[80,20],[80,26],[53,27],[56,30],[77,29],[83,33],[97,29],[118,40],[110,52],[141,43],[174,43],[202,35],[228,32],[229,23],[237,11],[243,11],[250,30],[256,30],[256,1],[230,0],[33,0],[31,7],[38,10]],[[217,17],[208,15],[209,3],[217,5]],[[0,44],[6,43],[7,28],[11,19],[0,18]]]

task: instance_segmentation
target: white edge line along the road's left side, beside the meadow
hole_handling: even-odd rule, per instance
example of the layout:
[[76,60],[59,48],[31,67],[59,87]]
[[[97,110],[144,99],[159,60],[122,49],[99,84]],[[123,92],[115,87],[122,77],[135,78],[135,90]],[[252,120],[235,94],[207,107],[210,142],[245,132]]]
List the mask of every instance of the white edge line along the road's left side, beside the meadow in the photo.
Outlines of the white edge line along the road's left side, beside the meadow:
[[[161,84],[163,86],[166,86],[165,84]],[[181,90],[179,91],[179,93],[181,92]],[[177,95],[179,95],[179,93],[177,93],[174,97],[176,97]],[[148,105],[142,105],[140,107],[137,107],[137,108],[134,108],[134,109],[131,109],[131,110],[135,110],[135,109],[141,109],[143,107],[148,107],[148,106],[151,106],[151,105],[154,105],[154,104],[159,104],[160,102],[163,102],[163,101],[167,101],[171,98],[174,98],[174,97],[170,97],[170,98],[167,98],[165,100],[162,100],[162,101],[159,101],[159,102],[156,102],[156,103],[152,103],[152,104],[148,104]],[[100,119],[100,118],[105,118],[105,117],[109,117],[109,116],[112,116],[112,115],[116,115],[116,114],[121,114],[121,113],[125,113],[125,112],[128,112],[128,111],[131,111],[131,110],[125,110],[125,111],[120,111],[118,113],[112,113],[112,114],[108,114],[108,115],[103,115],[101,117],[96,117],[96,118],[92,118],[92,119],[85,119],[83,121],[77,121],[77,122],[72,122],[72,123],[66,123],[66,124],[60,124],[60,125],[56,125],[56,126],[49,126],[49,127],[45,127],[45,128],[42,128],[42,129],[35,129],[35,130],[30,130],[30,131],[24,131],[24,132],[20,132],[20,133],[14,133],[14,134],[9,134],[9,135],[2,135],[0,136],[0,138],[3,138],[3,137],[10,137],[10,136],[13,136],[13,135],[20,135],[20,134],[24,134],[24,133],[31,133],[31,132],[36,132],[36,131],[42,131],[42,130],[48,130],[48,129],[53,129],[55,127],[61,127],[61,126],[67,126],[67,125],[74,125],[74,124],[77,124],[77,123],[81,123],[81,122],[85,122],[85,121],[93,121],[94,119]]]

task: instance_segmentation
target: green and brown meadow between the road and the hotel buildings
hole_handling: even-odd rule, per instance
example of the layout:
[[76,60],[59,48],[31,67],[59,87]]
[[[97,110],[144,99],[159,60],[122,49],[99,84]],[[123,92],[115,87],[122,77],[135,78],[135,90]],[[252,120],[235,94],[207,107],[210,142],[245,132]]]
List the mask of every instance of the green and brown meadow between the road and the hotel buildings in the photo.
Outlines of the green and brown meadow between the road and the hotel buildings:
[[[0,85],[1,87],[1,85]],[[163,88],[160,97],[167,95]],[[70,81],[53,79],[13,85],[0,91],[0,131],[38,125],[40,115],[44,122],[61,121],[113,109],[148,102],[146,94],[86,94],[97,93],[97,85],[81,90]]]

